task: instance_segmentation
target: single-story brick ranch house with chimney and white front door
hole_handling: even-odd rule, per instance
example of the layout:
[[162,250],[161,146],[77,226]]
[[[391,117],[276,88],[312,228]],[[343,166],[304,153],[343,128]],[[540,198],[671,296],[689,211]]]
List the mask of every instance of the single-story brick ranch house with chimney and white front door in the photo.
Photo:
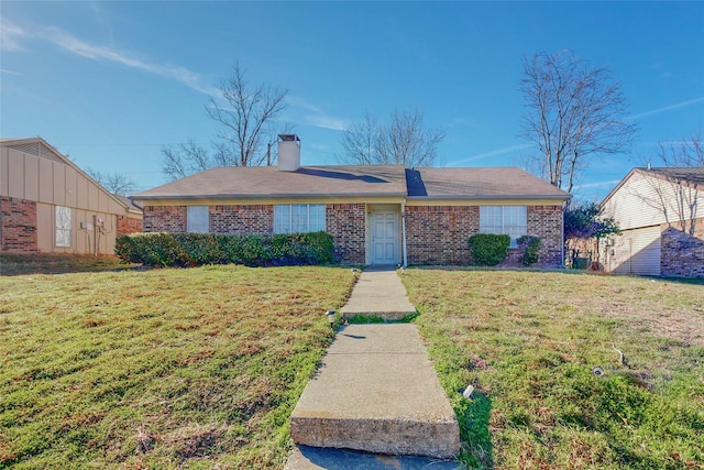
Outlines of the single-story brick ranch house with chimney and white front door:
[[341,262],[366,265],[469,264],[474,233],[532,234],[539,264],[562,264],[571,196],[521,170],[300,166],[298,136],[279,138],[277,167],[212,168],[133,196],[143,231],[324,230]]

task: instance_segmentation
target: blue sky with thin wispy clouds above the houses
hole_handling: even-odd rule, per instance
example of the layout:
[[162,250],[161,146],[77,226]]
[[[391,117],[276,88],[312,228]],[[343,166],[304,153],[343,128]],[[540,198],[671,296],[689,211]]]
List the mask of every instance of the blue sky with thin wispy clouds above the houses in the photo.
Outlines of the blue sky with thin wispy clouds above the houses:
[[[509,166],[521,61],[573,51],[623,81],[640,127],[575,195],[598,200],[658,142],[704,131],[704,2],[0,2],[0,135],[41,135],[81,167],[163,184],[161,149],[218,130],[235,62],[289,90],[304,164],[336,164],[365,110],[420,108],[444,166]],[[657,164],[657,161],[653,161]],[[502,182],[498,182],[502,183]]]

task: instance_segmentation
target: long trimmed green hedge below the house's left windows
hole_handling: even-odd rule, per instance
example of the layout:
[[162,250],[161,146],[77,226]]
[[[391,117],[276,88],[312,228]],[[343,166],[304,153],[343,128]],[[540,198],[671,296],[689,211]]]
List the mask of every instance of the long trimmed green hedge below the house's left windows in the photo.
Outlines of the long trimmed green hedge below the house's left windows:
[[114,251],[125,262],[151,266],[228,263],[283,266],[334,261],[332,237],[326,232],[275,236],[132,233],[118,237]]

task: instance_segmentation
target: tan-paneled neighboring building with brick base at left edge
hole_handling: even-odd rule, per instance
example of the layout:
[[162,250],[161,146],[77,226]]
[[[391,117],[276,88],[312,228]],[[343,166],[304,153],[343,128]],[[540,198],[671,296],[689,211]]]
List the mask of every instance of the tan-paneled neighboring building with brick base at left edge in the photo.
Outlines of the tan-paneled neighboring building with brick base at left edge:
[[142,210],[41,138],[0,140],[0,251],[112,254]]

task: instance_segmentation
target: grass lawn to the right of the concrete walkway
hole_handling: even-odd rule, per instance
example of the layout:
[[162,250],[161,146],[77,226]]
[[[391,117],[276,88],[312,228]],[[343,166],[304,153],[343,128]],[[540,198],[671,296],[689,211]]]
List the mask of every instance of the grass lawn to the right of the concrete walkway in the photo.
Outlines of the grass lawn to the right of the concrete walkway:
[[[420,269],[403,280],[468,468],[704,468],[702,282]],[[468,384],[472,401],[458,393]]]

